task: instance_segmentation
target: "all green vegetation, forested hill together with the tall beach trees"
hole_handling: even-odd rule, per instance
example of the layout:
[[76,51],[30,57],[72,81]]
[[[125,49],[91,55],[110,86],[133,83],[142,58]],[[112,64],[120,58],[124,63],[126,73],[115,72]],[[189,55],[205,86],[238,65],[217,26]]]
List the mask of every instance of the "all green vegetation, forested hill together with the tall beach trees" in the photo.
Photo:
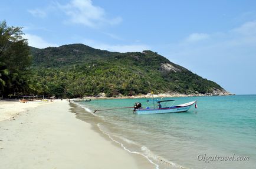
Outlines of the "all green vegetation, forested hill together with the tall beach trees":
[[212,93],[216,83],[146,50],[118,53],[83,44],[29,47],[19,27],[0,23],[0,96],[132,96],[177,92]]

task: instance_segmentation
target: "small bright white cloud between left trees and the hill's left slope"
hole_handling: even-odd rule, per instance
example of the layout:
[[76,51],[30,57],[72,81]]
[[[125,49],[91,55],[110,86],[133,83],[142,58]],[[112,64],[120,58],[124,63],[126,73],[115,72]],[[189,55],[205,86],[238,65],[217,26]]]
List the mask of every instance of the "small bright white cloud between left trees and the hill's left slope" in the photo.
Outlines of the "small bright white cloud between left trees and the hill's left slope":
[[42,48],[47,48],[47,47],[58,46],[54,43],[46,42],[44,39],[42,39],[40,36],[37,36],[37,35],[31,35],[31,34],[26,33],[24,35],[24,38],[28,39],[29,46],[33,46],[35,48],[42,49]]

